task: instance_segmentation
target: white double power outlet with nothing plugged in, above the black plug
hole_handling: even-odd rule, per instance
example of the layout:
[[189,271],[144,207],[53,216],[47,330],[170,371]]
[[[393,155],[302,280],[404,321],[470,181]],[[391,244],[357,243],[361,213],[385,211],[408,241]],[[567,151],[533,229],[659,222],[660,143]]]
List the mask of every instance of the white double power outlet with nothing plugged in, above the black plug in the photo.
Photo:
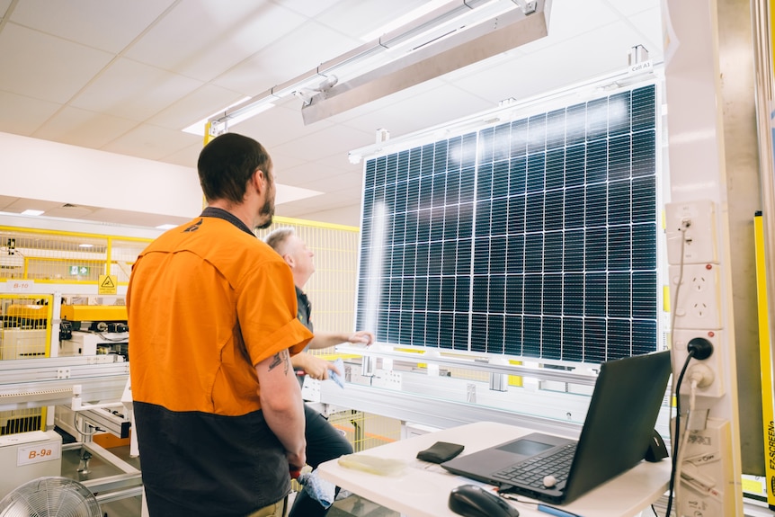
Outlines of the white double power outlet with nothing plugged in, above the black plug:
[[[711,263],[670,266],[671,308],[675,311],[675,328],[721,328],[721,294],[718,287],[718,266]],[[678,281],[678,299],[674,299]]]

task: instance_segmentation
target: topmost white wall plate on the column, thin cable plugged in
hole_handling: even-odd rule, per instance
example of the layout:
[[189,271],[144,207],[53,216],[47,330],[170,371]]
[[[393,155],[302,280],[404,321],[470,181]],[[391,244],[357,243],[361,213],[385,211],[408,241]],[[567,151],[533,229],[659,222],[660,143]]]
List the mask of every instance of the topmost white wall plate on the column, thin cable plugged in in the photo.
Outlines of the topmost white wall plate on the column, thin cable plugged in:
[[718,263],[716,204],[713,201],[667,203],[664,216],[668,263]]

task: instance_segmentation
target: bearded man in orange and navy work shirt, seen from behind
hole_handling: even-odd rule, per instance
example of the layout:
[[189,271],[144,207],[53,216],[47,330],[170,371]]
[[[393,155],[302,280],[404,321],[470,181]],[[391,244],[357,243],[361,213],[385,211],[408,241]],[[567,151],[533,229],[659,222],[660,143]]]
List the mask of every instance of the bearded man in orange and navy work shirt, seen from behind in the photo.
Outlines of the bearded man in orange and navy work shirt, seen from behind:
[[208,207],[148,245],[127,293],[148,512],[280,517],[307,459],[290,354],[312,334],[288,265],[253,232],[272,223],[272,159],[227,133],[198,170]]

